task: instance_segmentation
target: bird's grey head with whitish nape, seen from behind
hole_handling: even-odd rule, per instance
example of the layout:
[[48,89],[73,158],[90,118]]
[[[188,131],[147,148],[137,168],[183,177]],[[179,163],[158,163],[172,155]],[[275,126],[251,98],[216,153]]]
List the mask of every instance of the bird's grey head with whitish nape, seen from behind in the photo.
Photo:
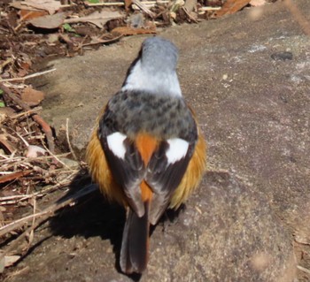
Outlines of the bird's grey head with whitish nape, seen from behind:
[[161,37],[146,39],[131,65],[122,90],[142,90],[150,94],[182,96],[176,75],[178,50]]

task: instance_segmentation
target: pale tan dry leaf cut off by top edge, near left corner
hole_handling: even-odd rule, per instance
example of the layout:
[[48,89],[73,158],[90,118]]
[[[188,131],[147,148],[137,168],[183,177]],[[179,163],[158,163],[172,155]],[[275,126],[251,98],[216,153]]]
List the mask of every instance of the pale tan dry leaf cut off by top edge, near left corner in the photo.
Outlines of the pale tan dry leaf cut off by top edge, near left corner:
[[21,10],[48,11],[52,15],[60,9],[61,3],[57,0],[27,0],[15,1],[11,6]]

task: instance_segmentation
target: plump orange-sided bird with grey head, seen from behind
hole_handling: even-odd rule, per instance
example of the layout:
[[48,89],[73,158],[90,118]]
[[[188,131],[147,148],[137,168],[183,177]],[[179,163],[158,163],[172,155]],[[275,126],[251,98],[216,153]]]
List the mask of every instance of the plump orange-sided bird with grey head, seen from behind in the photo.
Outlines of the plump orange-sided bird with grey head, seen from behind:
[[120,270],[143,273],[150,225],[177,210],[205,172],[206,142],[186,103],[173,42],[149,37],[126,79],[96,120],[86,151],[92,179],[105,197],[127,210]]

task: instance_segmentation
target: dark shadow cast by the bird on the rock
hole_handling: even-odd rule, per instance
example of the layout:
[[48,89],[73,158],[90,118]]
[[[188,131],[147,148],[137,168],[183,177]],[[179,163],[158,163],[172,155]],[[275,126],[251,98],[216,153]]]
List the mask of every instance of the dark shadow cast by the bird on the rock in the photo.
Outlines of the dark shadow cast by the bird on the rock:
[[[79,191],[90,184],[91,179],[88,172],[81,170],[71,182],[69,191],[58,202],[63,202],[74,196],[74,194],[78,194]],[[163,231],[165,231],[167,223],[174,223],[180,211],[182,211],[182,208],[177,211],[168,210],[161,217],[158,225],[162,226]],[[59,210],[56,217],[50,220],[50,231],[53,235],[68,239],[78,235],[86,239],[100,236],[102,240],[110,240],[115,255],[115,268],[118,272],[124,274],[120,270],[119,261],[125,220],[125,209],[116,203],[108,202],[99,189],[95,189],[90,194],[78,199],[74,206]],[[156,226],[151,226],[150,233],[155,230]],[[138,273],[127,276],[134,281],[139,281],[142,277]]]

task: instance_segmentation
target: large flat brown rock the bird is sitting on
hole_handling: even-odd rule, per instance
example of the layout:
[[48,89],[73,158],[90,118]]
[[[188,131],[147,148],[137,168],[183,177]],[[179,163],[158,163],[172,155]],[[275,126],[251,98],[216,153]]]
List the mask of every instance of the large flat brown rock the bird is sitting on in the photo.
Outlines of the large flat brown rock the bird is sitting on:
[[[182,90],[198,113],[210,167],[179,217],[152,233],[141,281],[292,281],[292,244],[299,266],[310,269],[310,42],[282,3],[256,12],[161,34],[180,48]],[[47,94],[44,118],[59,135],[70,118],[81,158],[143,38],[54,61],[57,71],[35,80]],[[95,194],[42,228],[10,281],[129,281],[117,272],[123,217]],[[299,268],[298,281],[309,278]]]

